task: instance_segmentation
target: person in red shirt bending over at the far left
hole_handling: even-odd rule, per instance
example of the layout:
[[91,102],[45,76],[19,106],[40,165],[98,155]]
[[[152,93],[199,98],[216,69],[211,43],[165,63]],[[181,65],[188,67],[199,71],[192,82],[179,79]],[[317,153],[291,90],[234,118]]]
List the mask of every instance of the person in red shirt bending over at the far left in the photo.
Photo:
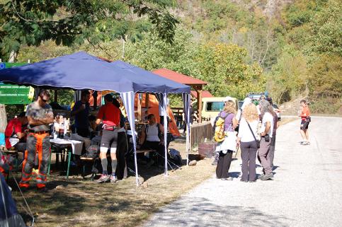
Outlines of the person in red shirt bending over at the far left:
[[25,112],[21,112],[18,118],[9,121],[5,130],[6,149],[25,151],[25,147],[20,146],[26,137],[26,132],[23,130],[23,125],[28,124],[28,119],[25,117]]

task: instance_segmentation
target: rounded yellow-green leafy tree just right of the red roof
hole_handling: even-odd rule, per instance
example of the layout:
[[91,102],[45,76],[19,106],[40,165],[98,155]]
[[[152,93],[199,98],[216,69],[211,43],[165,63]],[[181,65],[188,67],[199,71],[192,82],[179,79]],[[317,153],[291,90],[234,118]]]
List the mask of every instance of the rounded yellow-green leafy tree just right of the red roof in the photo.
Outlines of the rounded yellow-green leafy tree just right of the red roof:
[[199,78],[208,82],[205,89],[216,96],[243,99],[250,91],[263,91],[265,80],[258,64],[246,64],[247,51],[236,45],[208,43],[200,47]]

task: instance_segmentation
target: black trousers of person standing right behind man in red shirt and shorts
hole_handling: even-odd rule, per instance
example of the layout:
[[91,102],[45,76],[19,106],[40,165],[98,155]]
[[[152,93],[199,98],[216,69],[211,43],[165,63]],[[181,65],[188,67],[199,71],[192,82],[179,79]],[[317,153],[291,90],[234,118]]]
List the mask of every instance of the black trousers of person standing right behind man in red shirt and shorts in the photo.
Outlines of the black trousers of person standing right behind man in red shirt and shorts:
[[127,152],[127,136],[126,132],[118,132],[118,147],[116,149],[116,158],[118,159],[118,165],[116,166],[115,174],[119,180],[124,177]]

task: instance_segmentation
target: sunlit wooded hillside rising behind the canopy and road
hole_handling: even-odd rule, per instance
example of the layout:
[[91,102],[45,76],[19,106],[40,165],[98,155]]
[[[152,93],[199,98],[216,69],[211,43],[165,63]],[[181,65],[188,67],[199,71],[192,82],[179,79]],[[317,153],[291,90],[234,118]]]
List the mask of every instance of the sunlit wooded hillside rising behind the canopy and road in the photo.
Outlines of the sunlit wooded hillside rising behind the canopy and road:
[[[133,22],[114,26],[115,34],[109,37],[104,35],[109,23],[105,21],[87,30],[95,35],[82,42],[64,43],[52,37],[28,46],[21,41],[17,60],[37,62],[84,50],[144,69],[165,67],[203,79],[209,82],[205,89],[214,95],[242,99],[248,92],[267,90],[279,104],[303,96],[313,112],[341,111],[341,1],[175,1],[158,1],[179,22],[172,44],[161,39],[163,27],[157,28],[147,16],[137,21],[128,13]],[[63,16],[63,10],[57,16]],[[125,26],[135,30],[125,33]],[[125,41],[117,33],[125,33]],[[2,52],[3,46],[0,43]],[[2,59],[8,56],[6,50]]]

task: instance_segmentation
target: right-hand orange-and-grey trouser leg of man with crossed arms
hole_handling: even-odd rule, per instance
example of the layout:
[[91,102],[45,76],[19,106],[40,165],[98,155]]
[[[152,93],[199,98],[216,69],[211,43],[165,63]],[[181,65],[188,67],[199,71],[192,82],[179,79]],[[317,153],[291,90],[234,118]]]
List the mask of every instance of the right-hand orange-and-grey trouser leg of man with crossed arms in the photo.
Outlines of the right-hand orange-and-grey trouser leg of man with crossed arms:
[[[39,141],[40,140],[40,141]],[[47,168],[49,166],[50,155],[51,155],[51,144],[50,136],[48,134],[40,135],[38,137],[40,147],[38,149],[38,176],[37,176],[37,187],[43,188],[46,185]]]

